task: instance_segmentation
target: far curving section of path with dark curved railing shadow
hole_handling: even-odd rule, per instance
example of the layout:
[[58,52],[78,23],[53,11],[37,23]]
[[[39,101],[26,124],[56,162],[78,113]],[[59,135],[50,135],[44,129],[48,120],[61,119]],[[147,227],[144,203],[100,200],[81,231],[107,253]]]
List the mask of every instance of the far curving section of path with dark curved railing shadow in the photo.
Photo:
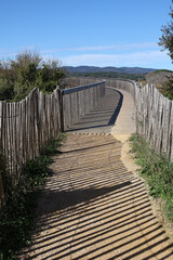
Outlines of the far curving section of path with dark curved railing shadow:
[[72,133],[132,133],[135,132],[134,103],[125,91],[106,88],[106,95],[98,105],[69,132]]

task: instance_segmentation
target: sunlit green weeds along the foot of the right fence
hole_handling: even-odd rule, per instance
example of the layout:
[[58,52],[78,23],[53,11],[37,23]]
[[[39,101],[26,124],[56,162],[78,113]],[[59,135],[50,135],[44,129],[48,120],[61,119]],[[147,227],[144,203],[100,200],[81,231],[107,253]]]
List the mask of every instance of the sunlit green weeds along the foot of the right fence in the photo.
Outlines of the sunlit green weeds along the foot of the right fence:
[[133,134],[130,141],[149,194],[164,202],[165,216],[173,222],[173,162],[149,148],[143,136]]

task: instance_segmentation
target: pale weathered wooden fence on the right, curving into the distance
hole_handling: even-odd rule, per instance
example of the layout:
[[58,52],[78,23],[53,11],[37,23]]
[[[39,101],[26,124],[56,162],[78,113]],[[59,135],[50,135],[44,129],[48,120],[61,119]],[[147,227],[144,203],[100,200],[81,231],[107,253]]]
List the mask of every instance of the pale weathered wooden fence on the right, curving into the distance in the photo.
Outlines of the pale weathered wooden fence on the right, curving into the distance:
[[[72,78],[72,82],[91,82],[92,78]],[[96,79],[101,80],[101,79]],[[131,93],[135,104],[136,132],[150,146],[173,161],[173,101],[163,96],[152,84],[142,87],[132,80],[106,79],[106,86]]]

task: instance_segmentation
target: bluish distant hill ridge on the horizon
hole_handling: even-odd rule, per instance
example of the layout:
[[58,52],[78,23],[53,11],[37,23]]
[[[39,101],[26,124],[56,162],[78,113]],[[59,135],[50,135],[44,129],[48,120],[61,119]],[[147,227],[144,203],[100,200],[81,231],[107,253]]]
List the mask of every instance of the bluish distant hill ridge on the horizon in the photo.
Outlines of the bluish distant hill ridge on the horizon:
[[79,73],[122,73],[122,74],[148,74],[156,72],[154,68],[142,67],[95,67],[95,66],[66,66],[65,69],[70,74]]

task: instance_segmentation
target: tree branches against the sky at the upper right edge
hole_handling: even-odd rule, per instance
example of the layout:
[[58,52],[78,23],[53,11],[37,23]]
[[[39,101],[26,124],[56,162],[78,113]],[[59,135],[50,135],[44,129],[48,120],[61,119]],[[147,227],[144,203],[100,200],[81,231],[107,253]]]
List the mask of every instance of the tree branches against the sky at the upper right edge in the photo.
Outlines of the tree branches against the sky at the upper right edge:
[[162,36],[161,38],[159,38],[158,44],[161,46],[163,50],[169,50],[168,54],[173,62],[173,9],[171,6],[170,9],[171,12],[169,13],[169,15],[171,16],[171,21],[167,25],[162,26]]

